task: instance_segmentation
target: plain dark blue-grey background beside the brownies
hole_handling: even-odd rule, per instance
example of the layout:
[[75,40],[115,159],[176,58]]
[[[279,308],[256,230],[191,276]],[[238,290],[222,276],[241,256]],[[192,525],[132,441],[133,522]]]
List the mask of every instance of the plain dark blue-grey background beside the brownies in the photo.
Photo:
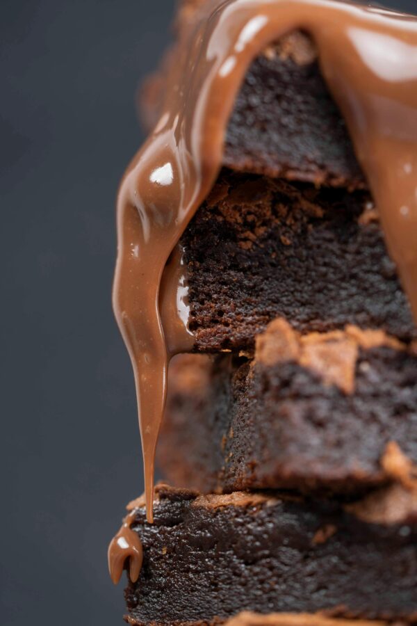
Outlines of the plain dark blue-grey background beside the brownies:
[[171,15],[172,0],[0,0],[5,626],[122,623],[106,549],[142,472],[114,204]]

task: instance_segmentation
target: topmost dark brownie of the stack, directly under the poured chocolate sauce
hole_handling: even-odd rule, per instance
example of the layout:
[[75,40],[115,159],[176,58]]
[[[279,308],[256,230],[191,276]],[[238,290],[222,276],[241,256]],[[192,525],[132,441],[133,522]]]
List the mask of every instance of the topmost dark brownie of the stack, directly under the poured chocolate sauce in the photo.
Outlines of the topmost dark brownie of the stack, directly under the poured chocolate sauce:
[[[194,3],[213,8],[213,2]],[[193,30],[195,11],[183,3],[181,41]],[[175,48],[142,88],[140,109],[147,129],[162,113],[165,76]],[[316,47],[297,31],[269,46],[250,66],[229,119],[223,164],[316,184],[366,186],[341,114],[322,79]]]

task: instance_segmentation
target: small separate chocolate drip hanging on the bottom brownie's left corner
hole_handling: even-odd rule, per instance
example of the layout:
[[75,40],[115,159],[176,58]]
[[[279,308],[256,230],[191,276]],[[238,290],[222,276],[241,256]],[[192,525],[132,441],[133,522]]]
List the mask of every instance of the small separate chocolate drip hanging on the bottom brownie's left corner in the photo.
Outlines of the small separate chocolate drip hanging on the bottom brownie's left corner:
[[135,511],[126,515],[120,531],[108,546],[108,571],[114,584],[120,581],[126,559],[129,559],[129,577],[136,582],[142,567],[143,550],[138,535],[131,529]]

